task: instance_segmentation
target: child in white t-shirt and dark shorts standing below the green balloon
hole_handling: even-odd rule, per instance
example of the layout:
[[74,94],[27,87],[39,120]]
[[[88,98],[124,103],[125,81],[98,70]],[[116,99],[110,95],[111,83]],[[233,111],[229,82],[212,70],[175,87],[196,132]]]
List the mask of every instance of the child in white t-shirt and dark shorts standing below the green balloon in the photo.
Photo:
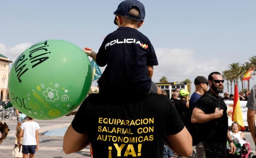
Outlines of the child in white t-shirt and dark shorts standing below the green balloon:
[[27,116],[27,121],[21,124],[21,131],[18,137],[18,144],[20,145],[21,137],[23,135],[22,153],[23,158],[34,158],[35,151],[39,149],[39,124],[31,117]]

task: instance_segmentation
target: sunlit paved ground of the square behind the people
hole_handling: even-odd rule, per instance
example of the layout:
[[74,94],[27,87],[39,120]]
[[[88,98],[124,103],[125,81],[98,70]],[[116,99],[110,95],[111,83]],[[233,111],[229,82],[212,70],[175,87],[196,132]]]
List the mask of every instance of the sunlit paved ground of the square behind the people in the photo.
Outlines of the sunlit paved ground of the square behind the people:
[[[67,127],[73,120],[74,115],[61,117],[54,120],[35,120],[39,123],[39,151],[35,153],[36,158],[90,158],[90,148],[86,147],[77,153],[69,155],[62,151],[63,136]],[[16,121],[5,121],[10,128],[7,139],[0,145],[0,158],[13,158],[12,149],[14,147]],[[255,145],[249,131],[245,131],[246,141],[251,144],[251,149],[255,153]],[[178,156],[175,155],[175,158]]]

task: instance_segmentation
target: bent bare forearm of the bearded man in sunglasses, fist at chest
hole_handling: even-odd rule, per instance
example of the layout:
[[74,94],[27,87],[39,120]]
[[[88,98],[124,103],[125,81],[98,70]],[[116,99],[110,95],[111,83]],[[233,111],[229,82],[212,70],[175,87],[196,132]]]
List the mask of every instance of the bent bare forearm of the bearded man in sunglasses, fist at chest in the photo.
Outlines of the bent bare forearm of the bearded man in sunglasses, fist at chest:
[[204,123],[204,122],[210,121],[212,119],[220,118],[220,117],[222,117],[222,115],[223,115],[222,109],[218,110],[218,108],[215,108],[214,113],[205,114],[205,112],[203,112],[203,110],[201,110],[199,108],[194,108],[194,110],[192,112],[192,116],[191,116],[191,122],[192,123]]

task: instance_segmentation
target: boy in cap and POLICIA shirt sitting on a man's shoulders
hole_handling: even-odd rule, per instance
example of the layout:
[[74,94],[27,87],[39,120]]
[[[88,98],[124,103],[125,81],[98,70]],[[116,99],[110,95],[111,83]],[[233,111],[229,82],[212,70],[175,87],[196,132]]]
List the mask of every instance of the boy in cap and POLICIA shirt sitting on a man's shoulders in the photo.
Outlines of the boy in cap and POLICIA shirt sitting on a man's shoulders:
[[107,35],[99,52],[83,49],[99,66],[107,65],[98,80],[100,93],[108,95],[121,89],[121,95],[161,94],[151,80],[153,66],[158,65],[155,50],[137,30],[144,23],[144,5],[137,0],[125,0],[114,14],[118,29]]

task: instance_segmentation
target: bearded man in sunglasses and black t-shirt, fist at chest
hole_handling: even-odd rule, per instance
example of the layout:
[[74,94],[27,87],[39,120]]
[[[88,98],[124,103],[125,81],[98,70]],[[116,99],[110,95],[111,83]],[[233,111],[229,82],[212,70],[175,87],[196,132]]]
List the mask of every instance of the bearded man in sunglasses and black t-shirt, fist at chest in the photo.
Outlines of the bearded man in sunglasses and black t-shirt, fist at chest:
[[223,78],[219,72],[212,72],[208,76],[210,89],[196,102],[192,112],[191,122],[200,123],[206,158],[226,158],[226,141],[235,153],[235,145],[228,133],[227,106],[219,97],[223,93]]

